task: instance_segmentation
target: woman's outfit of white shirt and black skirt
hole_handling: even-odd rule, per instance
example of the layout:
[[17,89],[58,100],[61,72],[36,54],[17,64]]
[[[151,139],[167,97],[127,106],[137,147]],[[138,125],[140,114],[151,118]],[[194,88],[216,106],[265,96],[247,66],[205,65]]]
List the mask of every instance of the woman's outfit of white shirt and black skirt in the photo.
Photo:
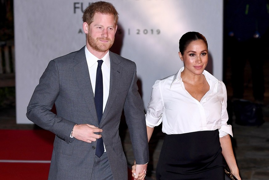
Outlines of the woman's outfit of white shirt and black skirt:
[[204,70],[210,89],[199,102],[186,91],[183,70],[155,82],[146,114],[147,126],[162,122],[166,134],[157,179],[224,179],[219,138],[233,135],[227,125],[226,87]]

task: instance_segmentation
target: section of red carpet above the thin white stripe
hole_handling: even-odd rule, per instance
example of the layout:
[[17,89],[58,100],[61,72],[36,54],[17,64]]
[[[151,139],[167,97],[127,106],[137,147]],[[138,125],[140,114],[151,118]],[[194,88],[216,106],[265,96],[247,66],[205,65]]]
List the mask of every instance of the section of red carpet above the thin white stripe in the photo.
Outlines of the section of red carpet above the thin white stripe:
[[55,135],[45,130],[0,130],[0,159],[51,160]]

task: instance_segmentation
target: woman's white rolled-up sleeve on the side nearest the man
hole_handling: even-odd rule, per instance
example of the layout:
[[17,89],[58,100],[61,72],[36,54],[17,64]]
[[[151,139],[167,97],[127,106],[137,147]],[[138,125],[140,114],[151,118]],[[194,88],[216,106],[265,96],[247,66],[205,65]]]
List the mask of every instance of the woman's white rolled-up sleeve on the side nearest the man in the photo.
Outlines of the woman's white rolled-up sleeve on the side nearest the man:
[[161,95],[160,80],[157,80],[152,87],[151,99],[146,114],[146,125],[155,127],[162,122],[163,99]]

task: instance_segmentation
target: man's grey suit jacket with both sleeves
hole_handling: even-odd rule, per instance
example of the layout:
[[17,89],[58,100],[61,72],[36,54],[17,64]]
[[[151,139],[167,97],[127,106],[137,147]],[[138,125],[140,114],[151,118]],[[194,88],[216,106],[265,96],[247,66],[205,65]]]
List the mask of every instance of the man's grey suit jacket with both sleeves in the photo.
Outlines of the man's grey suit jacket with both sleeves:
[[[119,137],[122,110],[137,164],[149,162],[144,106],[138,93],[136,65],[110,54],[110,90],[100,124],[86,61],[85,46],[49,62],[35,88],[26,116],[55,133],[49,179],[91,179],[96,142],[70,138],[75,124],[92,124],[101,133],[113,178],[127,179],[127,162]],[[55,103],[57,115],[50,110]]]

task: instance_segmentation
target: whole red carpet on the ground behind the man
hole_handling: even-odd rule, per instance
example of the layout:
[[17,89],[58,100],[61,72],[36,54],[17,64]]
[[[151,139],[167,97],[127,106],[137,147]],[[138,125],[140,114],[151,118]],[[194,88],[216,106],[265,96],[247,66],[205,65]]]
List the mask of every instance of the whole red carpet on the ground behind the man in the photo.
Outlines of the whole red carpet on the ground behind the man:
[[[48,178],[55,137],[53,133],[45,130],[0,130],[0,137],[1,180]],[[128,170],[128,175],[129,180],[133,179],[131,170]]]

